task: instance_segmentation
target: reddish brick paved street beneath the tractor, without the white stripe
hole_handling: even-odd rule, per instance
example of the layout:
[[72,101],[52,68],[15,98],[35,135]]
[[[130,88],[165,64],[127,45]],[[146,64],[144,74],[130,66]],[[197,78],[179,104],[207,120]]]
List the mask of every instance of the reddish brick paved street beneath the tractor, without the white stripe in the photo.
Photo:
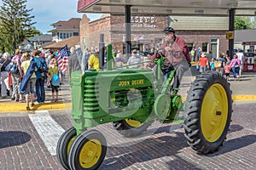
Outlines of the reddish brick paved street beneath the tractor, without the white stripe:
[[[156,123],[157,130],[150,127],[137,139],[121,137],[110,123],[98,126],[108,140],[107,156],[100,169],[255,169],[255,105],[234,104],[228,139],[218,152],[208,156],[190,149],[180,125]],[[67,129],[72,127],[68,112],[49,114]],[[2,116],[0,122],[0,169],[62,169],[27,115]]]

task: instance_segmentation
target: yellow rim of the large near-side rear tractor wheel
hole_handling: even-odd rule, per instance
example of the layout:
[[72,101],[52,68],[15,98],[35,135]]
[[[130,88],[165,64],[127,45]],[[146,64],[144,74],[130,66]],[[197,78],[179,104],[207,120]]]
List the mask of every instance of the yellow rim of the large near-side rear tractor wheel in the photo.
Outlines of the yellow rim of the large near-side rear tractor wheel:
[[201,130],[209,142],[217,141],[228,119],[228,98],[221,84],[213,84],[203,99],[201,106]]

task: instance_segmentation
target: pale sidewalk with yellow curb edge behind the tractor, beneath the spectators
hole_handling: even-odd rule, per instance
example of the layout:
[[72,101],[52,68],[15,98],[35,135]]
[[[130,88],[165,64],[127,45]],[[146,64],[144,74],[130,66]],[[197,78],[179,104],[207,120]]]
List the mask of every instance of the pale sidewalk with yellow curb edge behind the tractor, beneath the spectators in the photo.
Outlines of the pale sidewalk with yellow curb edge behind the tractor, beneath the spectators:
[[[184,76],[183,84],[181,85],[180,94],[183,100],[186,99],[187,91],[189,90],[190,82],[195,77]],[[230,88],[232,90],[232,99],[236,101],[249,101],[256,102],[256,73],[244,72],[240,81],[233,81],[230,78]],[[11,99],[0,99],[0,112],[30,112],[44,111],[44,110],[66,110],[71,109],[71,91],[67,80],[59,88],[59,102],[50,103],[51,100],[51,88],[45,88],[45,103],[43,105],[35,105],[32,107],[32,111],[26,111],[26,103],[15,102]]]

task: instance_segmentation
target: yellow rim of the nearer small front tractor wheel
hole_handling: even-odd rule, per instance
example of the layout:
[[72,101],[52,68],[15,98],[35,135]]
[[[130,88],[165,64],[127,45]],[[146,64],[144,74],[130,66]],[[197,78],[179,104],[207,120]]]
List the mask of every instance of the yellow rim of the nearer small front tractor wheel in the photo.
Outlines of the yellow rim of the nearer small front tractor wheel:
[[102,144],[97,139],[87,141],[79,155],[79,163],[83,168],[93,167],[102,154]]

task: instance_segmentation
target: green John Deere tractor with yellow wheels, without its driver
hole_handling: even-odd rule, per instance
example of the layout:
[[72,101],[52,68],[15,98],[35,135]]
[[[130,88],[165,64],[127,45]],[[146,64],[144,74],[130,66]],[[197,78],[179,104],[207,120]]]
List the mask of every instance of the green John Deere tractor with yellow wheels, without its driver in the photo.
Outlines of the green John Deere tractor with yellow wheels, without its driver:
[[[111,56],[111,46],[108,48]],[[109,60],[109,59],[108,59]],[[153,59],[157,79],[151,70],[112,69],[73,72],[73,127],[61,135],[57,156],[66,169],[97,169],[107,151],[101,132],[90,127],[113,123],[125,137],[137,136],[155,120],[171,123],[184,111],[185,138],[193,150],[212,153],[224,143],[230,127],[232,99],[230,84],[218,73],[197,76],[189,88],[185,104],[182,97],[171,95],[171,71],[160,82],[160,68],[165,58]]]

